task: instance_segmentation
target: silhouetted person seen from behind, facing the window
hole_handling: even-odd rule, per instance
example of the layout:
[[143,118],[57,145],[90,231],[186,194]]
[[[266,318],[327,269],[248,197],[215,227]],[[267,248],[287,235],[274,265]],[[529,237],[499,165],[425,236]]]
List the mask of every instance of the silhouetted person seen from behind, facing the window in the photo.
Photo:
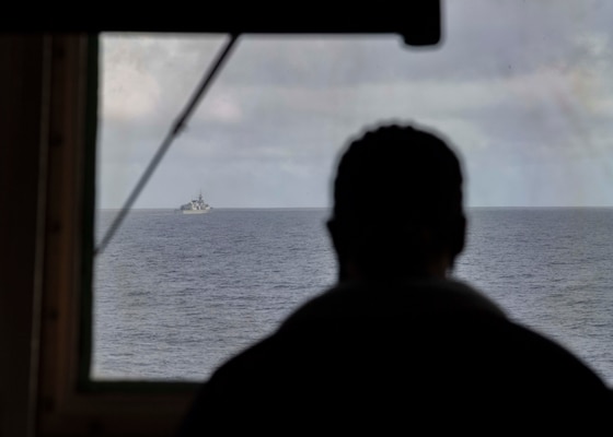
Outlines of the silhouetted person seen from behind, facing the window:
[[591,369],[448,277],[462,203],[461,165],[439,134],[391,125],[355,139],[327,223],[338,284],[222,365],[182,435],[611,427]]

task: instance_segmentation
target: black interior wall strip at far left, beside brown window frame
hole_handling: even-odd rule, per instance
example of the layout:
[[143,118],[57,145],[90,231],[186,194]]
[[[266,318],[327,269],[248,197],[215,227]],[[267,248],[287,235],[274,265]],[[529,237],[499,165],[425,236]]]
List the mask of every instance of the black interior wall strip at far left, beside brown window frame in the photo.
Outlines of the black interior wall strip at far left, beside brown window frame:
[[[41,35],[0,36],[0,435],[27,436],[33,423],[32,341],[41,285],[44,178]],[[44,191],[44,190],[43,190]]]

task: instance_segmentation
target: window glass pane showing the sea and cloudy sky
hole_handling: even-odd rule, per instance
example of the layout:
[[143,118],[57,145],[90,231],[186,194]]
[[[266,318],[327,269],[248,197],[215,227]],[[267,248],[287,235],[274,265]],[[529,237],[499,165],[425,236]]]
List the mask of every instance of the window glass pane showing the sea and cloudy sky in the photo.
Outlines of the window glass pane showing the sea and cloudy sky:
[[[613,381],[613,4],[443,11],[436,49],[393,35],[241,37],[95,259],[94,379],[203,380],[332,285],[337,154],[365,127],[413,120],[463,157],[455,276]],[[99,240],[224,42],[102,36]],[[178,210],[200,193],[211,210]]]

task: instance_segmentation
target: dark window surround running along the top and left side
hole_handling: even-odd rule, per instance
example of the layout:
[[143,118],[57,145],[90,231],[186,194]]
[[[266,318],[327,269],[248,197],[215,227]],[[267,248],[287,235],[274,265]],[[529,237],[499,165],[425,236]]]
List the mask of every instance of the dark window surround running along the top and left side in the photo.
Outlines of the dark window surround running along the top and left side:
[[[74,20],[50,5],[34,8],[41,20],[21,20],[26,15],[18,13],[5,23],[7,44],[0,51],[7,68],[0,75],[10,92],[0,107],[9,114],[2,120],[9,129],[0,138],[8,143],[1,155],[9,160],[1,167],[25,184],[0,191],[9,200],[34,202],[30,211],[36,216],[19,223],[18,211],[2,222],[9,224],[9,241],[22,245],[4,250],[9,286],[0,302],[12,317],[0,323],[10,338],[2,344],[18,347],[0,366],[11,379],[7,387],[15,389],[2,398],[10,404],[0,408],[0,434],[171,435],[198,387],[88,381],[97,33],[400,33],[415,45],[436,44],[440,37],[439,1],[420,2],[406,15],[383,8],[357,10],[351,20],[346,11],[322,14],[313,4],[301,10],[300,19],[278,20],[269,13],[273,8],[278,4],[258,4],[236,15],[235,5],[218,4],[205,17],[182,8],[146,19],[96,11]],[[28,17],[34,10],[28,7]]]

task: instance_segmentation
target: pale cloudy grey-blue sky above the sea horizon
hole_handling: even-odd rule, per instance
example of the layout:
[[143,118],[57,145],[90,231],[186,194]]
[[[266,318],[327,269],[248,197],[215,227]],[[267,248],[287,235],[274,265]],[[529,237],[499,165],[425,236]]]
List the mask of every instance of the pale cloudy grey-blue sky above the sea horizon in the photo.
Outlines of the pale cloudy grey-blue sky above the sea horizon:
[[[199,192],[213,208],[327,208],[339,153],[392,121],[450,142],[467,206],[612,206],[613,2],[442,7],[433,48],[242,35],[134,208]],[[227,38],[103,34],[99,208],[124,204]]]

